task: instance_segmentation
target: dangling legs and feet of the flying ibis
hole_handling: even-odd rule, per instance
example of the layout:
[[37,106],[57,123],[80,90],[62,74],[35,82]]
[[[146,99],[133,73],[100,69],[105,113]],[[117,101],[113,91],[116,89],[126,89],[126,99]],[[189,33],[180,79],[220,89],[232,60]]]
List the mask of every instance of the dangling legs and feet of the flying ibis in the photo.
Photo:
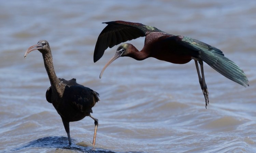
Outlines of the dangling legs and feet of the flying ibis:
[[[201,74],[200,74],[200,71],[199,71],[198,63],[200,64],[202,77],[201,77]],[[201,89],[203,91],[203,96],[204,96],[204,99],[205,99],[205,108],[207,108],[207,105],[209,104],[209,92],[208,92],[207,85],[206,85],[205,80],[204,80],[203,61],[198,60],[198,63],[197,63],[197,60],[195,60],[199,83],[200,83]]]

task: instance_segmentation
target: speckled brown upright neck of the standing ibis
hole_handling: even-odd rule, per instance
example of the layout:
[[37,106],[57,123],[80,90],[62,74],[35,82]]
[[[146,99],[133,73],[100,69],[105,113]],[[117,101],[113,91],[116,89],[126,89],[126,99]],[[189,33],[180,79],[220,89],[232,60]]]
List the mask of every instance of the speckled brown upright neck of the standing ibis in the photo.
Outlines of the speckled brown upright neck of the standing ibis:
[[46,69],[46,72],[48,74],[51,86],[53,90],[56,90],[56,92],[61,96],[63,91],[61,90],[61,82],[59,81],[53,66],[53,57],[51,53],[45,53],[43,54],[44,59],[44,66]]

